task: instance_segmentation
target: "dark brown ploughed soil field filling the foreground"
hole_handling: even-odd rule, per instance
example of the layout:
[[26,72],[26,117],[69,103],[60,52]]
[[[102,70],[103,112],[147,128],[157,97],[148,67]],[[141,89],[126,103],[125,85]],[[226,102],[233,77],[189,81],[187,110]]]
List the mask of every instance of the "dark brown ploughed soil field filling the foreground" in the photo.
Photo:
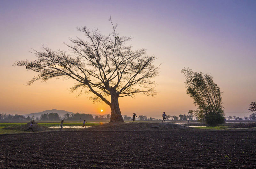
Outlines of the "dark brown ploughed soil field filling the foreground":
[[256,168],[256,131],[53,131],[0,136],[0,168]]

